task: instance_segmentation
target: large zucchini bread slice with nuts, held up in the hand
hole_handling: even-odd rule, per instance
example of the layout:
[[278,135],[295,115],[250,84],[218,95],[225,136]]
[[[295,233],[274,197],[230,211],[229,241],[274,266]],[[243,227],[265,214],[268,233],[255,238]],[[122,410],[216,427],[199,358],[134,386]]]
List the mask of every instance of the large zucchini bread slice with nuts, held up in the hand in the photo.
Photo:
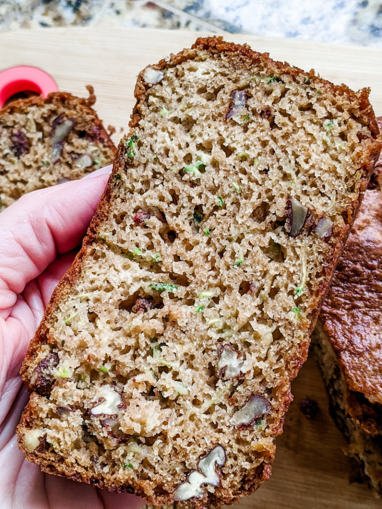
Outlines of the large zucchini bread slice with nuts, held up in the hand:
[[131,131],[23,363],[44,471],[158,505],[270,475],[380,140],[368,91],[198,39],[139,75]]

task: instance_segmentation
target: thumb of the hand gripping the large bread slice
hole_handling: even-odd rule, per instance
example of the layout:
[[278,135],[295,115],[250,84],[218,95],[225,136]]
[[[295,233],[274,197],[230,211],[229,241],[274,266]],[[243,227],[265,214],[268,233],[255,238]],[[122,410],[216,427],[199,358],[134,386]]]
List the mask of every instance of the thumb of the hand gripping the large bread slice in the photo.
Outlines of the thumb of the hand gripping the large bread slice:
[[0,214],[0,313],[58,253],[80,243],[107,179],[103,174],[40,189]]

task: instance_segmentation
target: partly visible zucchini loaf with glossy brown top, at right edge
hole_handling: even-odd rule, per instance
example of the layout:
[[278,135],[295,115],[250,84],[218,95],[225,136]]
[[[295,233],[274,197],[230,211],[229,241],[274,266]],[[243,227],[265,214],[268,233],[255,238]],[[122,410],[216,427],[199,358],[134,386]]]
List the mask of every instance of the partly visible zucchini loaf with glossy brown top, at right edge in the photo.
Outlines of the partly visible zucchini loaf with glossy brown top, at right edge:
[[[382,121],[382,119],[380,119]],[[382,127],[382,122],[378,123]],[[371,189],[338,263],[312,335],[331,414],[348,440],[347,456],[382,495],[382,188]]]

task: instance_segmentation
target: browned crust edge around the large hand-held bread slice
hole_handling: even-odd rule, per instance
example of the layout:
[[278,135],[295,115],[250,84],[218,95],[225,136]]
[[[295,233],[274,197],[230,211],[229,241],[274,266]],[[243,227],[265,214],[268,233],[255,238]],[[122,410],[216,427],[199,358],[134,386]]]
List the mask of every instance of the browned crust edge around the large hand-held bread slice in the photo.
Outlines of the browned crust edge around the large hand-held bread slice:
[[[356,117],[362,124],[368,125],[370,127],[372,137],[374,138],[374,141],[368,140],[368,144],[365,144],[365,151],[366,151],[366,162],[361,166],[360,171],[362,174],[361,178],[361,193],[364,192],[364,190],[367,187],[370,174],[372,172],[375,159],[377,158],[381,144],[380,142],[375,142],[375,138],[378,134],[375,118],[373,115],[372,108],[368,102],[367,96],[368,91],[364,90],[361,91],[361,93],[356,94],[352,91],[350,91],[345,86],[339,86],[336,87],[332,83],[325,81],[321,78],[318,78],[314,75],[313,71],[310,73],[305,73],[304,71],[295,68],[290,67],[286,63],[280,63],[280,62],[274,62],[268,58],[267,54],[260,54],[257,53],[247,45],[236,45],[232,43],[226,43],[219,37],[212,37],[212,38],[200,38],[196,41],[195,45],[191,49],[185,49],[178,53],[177,55],[171,55],[170,60],[161,60],[158,64],[151,66],[153,69],[165,69],[167,66],[175,66],[179,64],[180,62],[184,62],[187,59],[193,59],[196,54],[196,49],[208,49],[212,52],[235,52],[240,54],[244,59],[247,59],[249,63],[258,62],[260,60],[263,60],[266,62],[266,65],[269,66],[271,69],[274,70],[275,73],[285,73],[290,76],[292,76],[295,79],[299,79],[302,76],[306,79],[309,79],[310,81],[315,81],[320,84],[321,87],[325,87],[326,89],[329,89],[333,94],[338,95],[346,95],[350,97],[351,101],[354,103],[354,110],[353,115]],[[131,116],[130,121],[130,127],[136,127],[138,126],[138,123],[140,121],[140,103],[143,100],[144,93],[147,89],[147,84],[143,78],[143,72],[140,73],[137,81],[137,85],[135,87],[135,97],[137,98],[137,104],[134,108],[133,114]],[[123,156],[124,149],[123,146],[120,145],[115,162],[113,167],[113,173],[108,181],[108,184],[106,186],[105,192],[102,196],[102,199],[100,201],[99,207],[97,209],[97,212],[95,216],[92,219],[90,228],[88,230],[88,234],[84,239],[83,247],[81,248],[80,252],[77,254],[77,257],[71,266],[71,268],[68,270],[66,275],[61,280],[59,286],[54,291],[51,301],[48,304],[48,307],[45,312],[45,318],[42,321],[40,327],[38,328],[36,332],[36,336],[34,340],[31,342],[30,348],[28,350],[28,355],[26,357],[26,360],[22,367],[22,375],[23,375],[23,381],[29,385],[30,380],[28,379],[26,373],[28,371],[28,364],[29,360],[35,355],[39,344],[45,342],[45,336],[47,334],[47,328],[46,328],[46,317],[49,315],[54,315],[54,310],[58,306],[59,302],[65,297],[67,292],[70,289],[71,284],[76,280],[78,273],[81,270],[81,263],[82,259],[86,252],[86,247],[90,245],[93,240],[95,239],[96,231],[99,227],[99,224],[102,222],[104,216],[107,213],[107,209],[110,206],[111,202],[111,196],[112,191],[115,185],[115,178],[118,172],[120,172],[120,168],[125,166],[125,159]],[[322,282],[321,286],[316,292],[315,297],[315,309],[312,310],[310,314],[310,330],[314,327],[315,320],[317,318],[319,305],[321,302],[321,299],[323,297],[323,294],[326,290],[326,288],[329,285],[329,281],[333,275],[333,271],[335,269],[338,257],[340,255],[341,249],[345,243],[346,235],[351,227],[351,224],[354,220],[354,217],[356,215],[356,212],[360,206],[362,196],[359,197],[359,199],[354,200],[352,205],[347,210],[347,213],[345,214],[344,221],[345,226],[343,229],[339,229],[336,233],[336,242],[334,242],[334,248],[332,253],[331,262],[323,267],[323,274],[324,274],[324,281]],[[299,367],[303,364],[303,362],[306,359],[307,353],[308,353],[308,347],[309,347],[309,340],[307,339],[305,343],[301,345],[301,348],[299,350],[299,355],[297,358],[294,358],[291,360],[291,366],[290,366],[290,378],[293,378],[296,376]],[[291,394],[289,391],[284,391],[282,394],[282,398],[279,401],[279,410],[280,414],[284,414],[285,411],[288,408],[289,402],[291,401]],[[29,422],[31,419],[31,414],[28,411],[28,406],[26,407],[21,425],[25,425]],[[280,421],[277,423],[277,425],[274,426],[274,429],[272,432],[277,435],[282,432],[282,425],[283,425],[283,419],[281,418]],[[21,441],[19,442],[20,448],[24,451],[26,454],[26,457],[36,462],[36,456],[28,453],[28,451],[25,451],[25,448],[23,447]],[[255,473],[251,473],[251,475],[248,478],[244,478],[242,480],[242,493],[243,494],[249,494],[255,489],[257,489],[260,484],[263,482],[263,480],[267,479],[270,475],[271,466],[270,463],[273,460],[274,455],[269,455],[268,462],[262,463],[257,471]],[[165,501],[169,501],[169,496],[166,493],[152,493],[152,496],[149,496],[148,493],[150,492],[150,488],[152,490],[152,487],[150,487],[148,482],[145,482],[143,480],[137,480],[137,482],[134,483],[133,488],[130,486],[116,486],[113,483],[113,480],[105,476],[103,479],[94,479],[93,477],[90,477],[89,475],[84,473],[73,473],[67,470],[67,468],[64,465],[57,465],[57,466],[51,466],[44,464],[44,462],[40,463],[40,467],[45,471],[50,471],[52,473],[56,473],[58,475],[62,475],[69,478],[76,478],[77,480],[81,480],[82,482],[87,483],[94,483],[99,487],[107,488],[110,490],[117,490],[117,491],[134,491],[137,494],[145,496],[146,499],[152,504],[161,504]],[[213,503],[216,505],[216,507],[220,507],[224,503],[232,503],[234,500],[236,500],[238,497],[232,498],[232,496],[227,493],[226,495],[220,491],[219,497],[210,498],[208,502]],[[184,507],[190,506],[201,506],[205,501],[203,499],[200,499],[193,503],[190,501],[188,504],[185,504]]]

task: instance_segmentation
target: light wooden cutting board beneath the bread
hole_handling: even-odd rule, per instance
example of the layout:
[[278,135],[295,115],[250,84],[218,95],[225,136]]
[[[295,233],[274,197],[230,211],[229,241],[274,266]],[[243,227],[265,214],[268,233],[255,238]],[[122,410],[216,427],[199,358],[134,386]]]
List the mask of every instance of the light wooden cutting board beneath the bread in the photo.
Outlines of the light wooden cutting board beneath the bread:
[[[199,34],[200,35],[200,34]],[[48,72],[59,89],[86,95],[90,83],[96,109],[105,125],[117,128],[118,142],[133,106],[138,71],[170,52],[192,44],[198,34],[158,30],[42,29],[0,35],[0,70],[32,65]],[[340,47],[309,41],[227,36],[268,51],[277,60],[305,70],[314,68],[336,84],[371,88],[371,103],[382,115],[382,50]],[[328,413],[328,400],[313,359],[308,359],[293,382],[294,402],[277,439],[271,479],[239,509],[376,509],[382,501],[363,485],[350,484],[351,467],[342,454],[345,441]],[[308,420],[299,410],[306,398],[317,401],[320,412]]]

